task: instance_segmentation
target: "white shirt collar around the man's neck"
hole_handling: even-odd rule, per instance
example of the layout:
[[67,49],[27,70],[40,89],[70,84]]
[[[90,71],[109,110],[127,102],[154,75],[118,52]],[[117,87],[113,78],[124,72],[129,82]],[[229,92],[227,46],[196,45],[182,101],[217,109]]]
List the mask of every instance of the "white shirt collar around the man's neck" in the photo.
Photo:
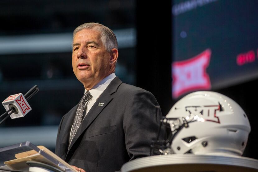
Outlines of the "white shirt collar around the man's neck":
[[[116,77],[115,73],[111,73],[103,80],[101,80],[98,84],[96,84],[94,87],[92,87],[92,89],[89,90],[90,94],[92,95],[92,98],[97,100],[115,77]],[[84,93],[86,91],[87,90],[85,89]]]

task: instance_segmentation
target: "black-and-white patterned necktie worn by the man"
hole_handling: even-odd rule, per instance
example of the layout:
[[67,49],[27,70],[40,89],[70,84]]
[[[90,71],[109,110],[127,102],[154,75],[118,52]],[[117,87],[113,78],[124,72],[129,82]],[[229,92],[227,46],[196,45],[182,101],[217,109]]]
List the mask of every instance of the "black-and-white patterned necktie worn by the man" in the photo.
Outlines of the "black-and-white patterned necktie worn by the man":
[[84,112],[84,109],[85,109],[85,103],[90,100],[92,97],[92,95],[90,94],[90,91],[87,91],[81,98],[81,101],[79,103],[79,106],[78,106],[78,109],[76,111],[76,115],[75,115],[75,118],[74,118],[74,121],[73,121],[73,124],[72,124],[72,131],[71,131],[71,136],[70,136],[70,139],[69,139],[69,145],[68,145],[68,149],[71,145],[71,142],[72,142],[72,139],[73,137],[75,136],[78,128],[80,127],[81,125],[81,120],[82,120],[82,116],[83,116],[83,112]]

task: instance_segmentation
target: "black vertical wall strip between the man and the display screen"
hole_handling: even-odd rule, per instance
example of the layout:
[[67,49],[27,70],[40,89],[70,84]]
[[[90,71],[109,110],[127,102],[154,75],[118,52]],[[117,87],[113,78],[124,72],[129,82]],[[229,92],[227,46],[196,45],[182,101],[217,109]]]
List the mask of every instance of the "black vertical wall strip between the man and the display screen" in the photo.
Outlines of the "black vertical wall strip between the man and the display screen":
[[136,3],[137,86],[154,94],[163,115],[171,98],[171,2]]

